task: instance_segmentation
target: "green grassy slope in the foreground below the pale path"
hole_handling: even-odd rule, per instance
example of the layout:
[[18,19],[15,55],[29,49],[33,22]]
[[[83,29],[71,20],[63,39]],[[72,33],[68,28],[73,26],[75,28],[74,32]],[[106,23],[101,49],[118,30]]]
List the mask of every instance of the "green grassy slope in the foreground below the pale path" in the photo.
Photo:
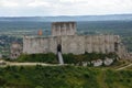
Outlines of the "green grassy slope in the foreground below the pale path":
[[0,88],[132,88],[132,70],[88,67],[0,68]]

